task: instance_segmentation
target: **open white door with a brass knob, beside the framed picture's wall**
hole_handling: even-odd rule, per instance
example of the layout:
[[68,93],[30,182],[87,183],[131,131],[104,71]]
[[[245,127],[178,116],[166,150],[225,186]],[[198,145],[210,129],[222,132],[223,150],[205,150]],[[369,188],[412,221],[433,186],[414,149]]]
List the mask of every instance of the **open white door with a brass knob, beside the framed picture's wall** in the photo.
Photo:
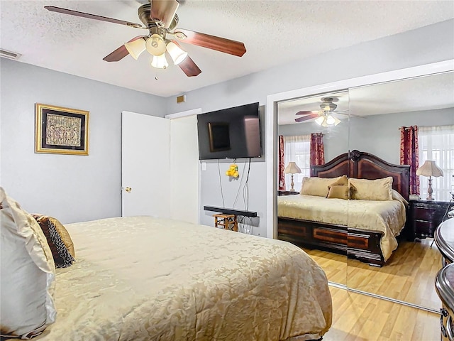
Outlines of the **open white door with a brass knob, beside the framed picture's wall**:
[[121,129],[121,215],[170,217],[170,120],[123,112]]

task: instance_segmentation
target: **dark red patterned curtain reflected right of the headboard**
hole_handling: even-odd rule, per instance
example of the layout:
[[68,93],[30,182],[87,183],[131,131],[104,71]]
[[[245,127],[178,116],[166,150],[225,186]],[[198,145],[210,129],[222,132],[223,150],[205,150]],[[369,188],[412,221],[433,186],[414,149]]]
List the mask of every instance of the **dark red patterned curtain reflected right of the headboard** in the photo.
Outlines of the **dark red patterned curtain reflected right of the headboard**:
[[419,194],[418,126],[400,127],[400,164],[410,165],[410,194]]

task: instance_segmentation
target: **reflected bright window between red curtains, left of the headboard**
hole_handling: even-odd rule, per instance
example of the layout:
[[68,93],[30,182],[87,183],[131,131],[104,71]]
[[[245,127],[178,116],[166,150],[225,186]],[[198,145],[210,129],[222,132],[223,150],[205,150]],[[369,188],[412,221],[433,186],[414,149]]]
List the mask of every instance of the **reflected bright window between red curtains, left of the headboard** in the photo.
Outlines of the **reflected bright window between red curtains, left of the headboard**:
[[[284,136],[284,165],[287,166],[290,161],[297,163],[301,168],[301,173],[294,174],[294,190],[301,190],[304,176],[311,175],[310,161],[311,161],[311,136]],[[285,189],[290,190],[292,177],[290,174],[285,175]]]

